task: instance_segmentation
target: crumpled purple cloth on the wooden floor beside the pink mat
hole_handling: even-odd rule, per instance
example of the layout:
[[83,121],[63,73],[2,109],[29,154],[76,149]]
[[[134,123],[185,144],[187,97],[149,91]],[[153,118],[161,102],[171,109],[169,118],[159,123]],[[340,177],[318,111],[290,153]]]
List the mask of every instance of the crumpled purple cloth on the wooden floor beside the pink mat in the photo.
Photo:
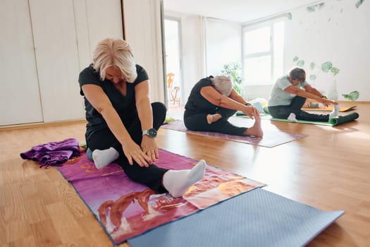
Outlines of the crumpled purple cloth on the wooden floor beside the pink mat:
[[40,167],[58,166],[75,156],[80,156],[80,145],[75,138],[40,144],[20,153],[22,159],[38,161]]

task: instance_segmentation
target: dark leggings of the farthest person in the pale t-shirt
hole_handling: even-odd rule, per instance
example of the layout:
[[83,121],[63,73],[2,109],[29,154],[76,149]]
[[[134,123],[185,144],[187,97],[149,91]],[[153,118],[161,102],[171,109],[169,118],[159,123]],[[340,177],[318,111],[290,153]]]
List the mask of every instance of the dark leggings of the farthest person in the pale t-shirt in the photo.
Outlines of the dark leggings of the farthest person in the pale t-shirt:
[[279,105],[275,107],[269,107],[271,116],[276,119],[288,119],[289,114],[294,113],[295,119],[304,121],[329,121],[328,114],[312,114],[302,111],[302,107],[306,102],[306,98],[296,96],[293,98],[289,105]]

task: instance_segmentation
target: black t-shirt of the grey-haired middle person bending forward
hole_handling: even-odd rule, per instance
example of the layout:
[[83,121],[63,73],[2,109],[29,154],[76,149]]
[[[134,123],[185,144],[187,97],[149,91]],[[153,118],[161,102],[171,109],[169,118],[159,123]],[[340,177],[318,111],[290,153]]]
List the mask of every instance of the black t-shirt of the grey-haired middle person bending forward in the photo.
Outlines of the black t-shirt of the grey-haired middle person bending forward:
[[197,82],[190,92],[187,102],[185,104],[186,114],[206,113],[214,114],[217,111],[217,106],[206,100],[201,94],[200,90],[204,87],[211,86],[212,82],[209,78],[203,78]]

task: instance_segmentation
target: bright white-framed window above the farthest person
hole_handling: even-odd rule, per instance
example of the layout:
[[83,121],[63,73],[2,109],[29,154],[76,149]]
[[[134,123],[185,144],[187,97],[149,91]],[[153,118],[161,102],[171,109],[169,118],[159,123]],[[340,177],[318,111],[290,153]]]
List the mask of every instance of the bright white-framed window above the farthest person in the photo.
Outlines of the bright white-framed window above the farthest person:
[[271,85],[283,75],[284,21],[243,28],[243,77],[247,85]]

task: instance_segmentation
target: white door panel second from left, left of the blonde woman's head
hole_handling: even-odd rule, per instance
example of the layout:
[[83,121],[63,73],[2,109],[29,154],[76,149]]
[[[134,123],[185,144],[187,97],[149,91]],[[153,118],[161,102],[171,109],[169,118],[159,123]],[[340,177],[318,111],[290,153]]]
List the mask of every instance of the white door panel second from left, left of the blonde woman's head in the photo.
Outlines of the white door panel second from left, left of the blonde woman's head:
[[44,121],[83,119],[73,1],[30,0]]

